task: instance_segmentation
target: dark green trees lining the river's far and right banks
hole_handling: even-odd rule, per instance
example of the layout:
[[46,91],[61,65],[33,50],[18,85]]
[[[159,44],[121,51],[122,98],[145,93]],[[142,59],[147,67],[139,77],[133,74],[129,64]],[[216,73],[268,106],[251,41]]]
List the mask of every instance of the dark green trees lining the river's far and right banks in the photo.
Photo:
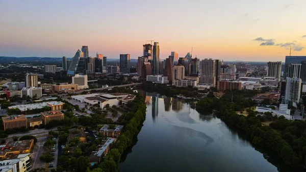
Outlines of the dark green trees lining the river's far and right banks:
[[[166,96],[197,95],[197,89],[189,87],[145,83],[142,88]],[[306,121],[288,120],[284,116],[273,116],[270,112],[258,115],[251,108],[257,103],[249,99],[256,93],[257,90],[233,90],[225,92],[219,98],[208,93],[207,97],[197,101],[195,108],[200,111],[219,112],[221,120],[244,132],[252,144],[271,150],[289,166],[306,168]],[[242,111],[246,111],[247,114],[237,113]],[[262,122],[266,121],[269,121],[268,125],[262,125]]]

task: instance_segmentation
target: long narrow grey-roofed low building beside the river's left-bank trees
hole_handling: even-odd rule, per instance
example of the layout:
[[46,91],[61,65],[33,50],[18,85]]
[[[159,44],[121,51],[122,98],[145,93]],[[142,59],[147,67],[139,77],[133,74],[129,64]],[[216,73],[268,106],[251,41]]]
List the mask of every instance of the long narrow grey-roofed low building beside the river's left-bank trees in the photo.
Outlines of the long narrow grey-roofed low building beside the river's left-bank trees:
[[101,159],[106,156],[111,149],[111,146],[113,142],[115,142],[116,139],[109,138],[105,141],[103,141],[102,144],[97,146],[97,150],[93,151],[89,156],[89,166],[94,166],[95,164],[98,164],[101,162]]

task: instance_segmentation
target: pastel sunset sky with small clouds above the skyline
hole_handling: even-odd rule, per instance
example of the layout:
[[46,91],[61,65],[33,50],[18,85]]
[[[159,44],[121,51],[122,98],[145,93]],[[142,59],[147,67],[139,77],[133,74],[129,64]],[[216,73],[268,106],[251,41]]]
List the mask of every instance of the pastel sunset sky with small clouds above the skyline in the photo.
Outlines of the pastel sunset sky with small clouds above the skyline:
[[[0,56],[142,55],[285,61],[306,56],[305,0],[0,1]],[[48,53],[50,52],[50,53]]]

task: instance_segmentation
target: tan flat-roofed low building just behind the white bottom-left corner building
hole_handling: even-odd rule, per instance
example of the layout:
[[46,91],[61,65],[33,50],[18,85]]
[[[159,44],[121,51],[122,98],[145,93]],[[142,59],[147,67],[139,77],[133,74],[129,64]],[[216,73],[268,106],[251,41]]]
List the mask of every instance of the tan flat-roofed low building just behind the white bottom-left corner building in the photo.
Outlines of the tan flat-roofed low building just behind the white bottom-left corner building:
[[8,141],[0,144],[0,159],[11,159],[19,154],[29,154],[34,147],[34,140]]

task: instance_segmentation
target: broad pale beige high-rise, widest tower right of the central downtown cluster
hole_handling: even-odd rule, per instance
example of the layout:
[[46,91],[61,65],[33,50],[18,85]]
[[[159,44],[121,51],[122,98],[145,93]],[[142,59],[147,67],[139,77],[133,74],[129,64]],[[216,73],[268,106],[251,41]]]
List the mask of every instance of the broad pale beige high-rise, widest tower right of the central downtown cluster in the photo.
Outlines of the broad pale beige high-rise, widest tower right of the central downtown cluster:
[[201,61],[200,83],[216,85],[216,60],[204,59]]

